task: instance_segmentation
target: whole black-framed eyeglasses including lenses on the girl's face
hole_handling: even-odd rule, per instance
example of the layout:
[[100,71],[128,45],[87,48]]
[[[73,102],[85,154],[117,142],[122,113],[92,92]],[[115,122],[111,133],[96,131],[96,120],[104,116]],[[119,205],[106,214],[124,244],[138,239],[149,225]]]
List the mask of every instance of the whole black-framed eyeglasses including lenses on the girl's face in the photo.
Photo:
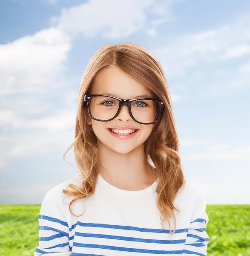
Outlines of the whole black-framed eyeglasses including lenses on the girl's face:
[[[128,106],[129,114],[135,122],[143,125],[154,124],[158,121],[163,102],[153,98],[120,99],[104,94],[86,94],[89,116],[101,122],[113,120],[121,111],[123,105]],[[108,102],[108,105],[106,103]],[[109,104],[115,105],[109,105]],[[142,104],[141,104],[142,103]],[[137,105],[138,104],[138,105]]]

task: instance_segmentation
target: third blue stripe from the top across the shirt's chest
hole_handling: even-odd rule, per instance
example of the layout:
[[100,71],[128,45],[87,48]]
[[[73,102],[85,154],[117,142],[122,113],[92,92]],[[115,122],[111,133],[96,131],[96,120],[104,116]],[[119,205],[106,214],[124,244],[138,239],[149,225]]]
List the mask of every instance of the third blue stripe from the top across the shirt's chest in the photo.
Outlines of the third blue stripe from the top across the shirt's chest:
[[80,244],[73,243],[73,246],[76,247],[88,247],[88,248],[101,248],[107,250],[119,250],[125,252],[135,252],[135,253],[152,253],[152,254],[182,254],[183,250],[147,250],[147,249],[136,249],[136,248],[128,248],[128,247],[118,247],[118,246],[110,246],[110,245],[102,245],[102,244]]

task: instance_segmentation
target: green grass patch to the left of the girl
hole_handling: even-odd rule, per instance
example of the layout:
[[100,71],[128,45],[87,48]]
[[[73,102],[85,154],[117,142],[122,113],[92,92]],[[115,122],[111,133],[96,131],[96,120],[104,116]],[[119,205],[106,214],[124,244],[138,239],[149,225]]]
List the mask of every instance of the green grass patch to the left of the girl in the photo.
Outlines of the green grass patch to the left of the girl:
[[40,205],[0,205],[0,255],[34,256]]

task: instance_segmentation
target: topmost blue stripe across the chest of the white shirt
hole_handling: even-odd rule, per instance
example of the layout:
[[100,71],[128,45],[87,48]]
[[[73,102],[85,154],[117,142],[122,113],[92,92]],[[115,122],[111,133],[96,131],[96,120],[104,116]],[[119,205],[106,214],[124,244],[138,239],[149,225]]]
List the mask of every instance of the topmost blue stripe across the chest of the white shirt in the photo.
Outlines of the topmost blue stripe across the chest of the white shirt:
[[[140,231],[140,232],[167,233],[167,234],[170,234],[170,230],[154,229],[154,228],[121,226],[121,225],[102,224],[102,223],[86,223],[86,222],[80,222],[80,221],[77,222],[77,225],[79,225],[81,227],[105,227],[105,228],[113,228],[113,229],[121,229],[121,230],[135,230],[135,231]],[[183,229],[175,230],[175,233],[184,233],[184,232],[188,232],[188,228],[183,228]]]

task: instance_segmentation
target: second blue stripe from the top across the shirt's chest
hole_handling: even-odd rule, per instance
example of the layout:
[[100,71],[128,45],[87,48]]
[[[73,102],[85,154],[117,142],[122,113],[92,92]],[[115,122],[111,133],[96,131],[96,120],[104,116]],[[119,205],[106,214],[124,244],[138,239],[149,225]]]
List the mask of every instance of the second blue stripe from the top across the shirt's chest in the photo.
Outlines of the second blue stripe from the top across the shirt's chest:
[[135,242],[144,242],[144,243],[155,243],[155,244],[184,244],[185,239],[182,240],[159,240],[159,239],[142,239],[137,237],[129,237],[129,236],[112,236],[112,235],[104,235],[104,234],[93,234],[93,233],[79,233],[76,232],[75,236],[83,236],[83,237],[98,237],[98,238],[106,238],[106,239],[118,239],[124,241],[135,241]]

